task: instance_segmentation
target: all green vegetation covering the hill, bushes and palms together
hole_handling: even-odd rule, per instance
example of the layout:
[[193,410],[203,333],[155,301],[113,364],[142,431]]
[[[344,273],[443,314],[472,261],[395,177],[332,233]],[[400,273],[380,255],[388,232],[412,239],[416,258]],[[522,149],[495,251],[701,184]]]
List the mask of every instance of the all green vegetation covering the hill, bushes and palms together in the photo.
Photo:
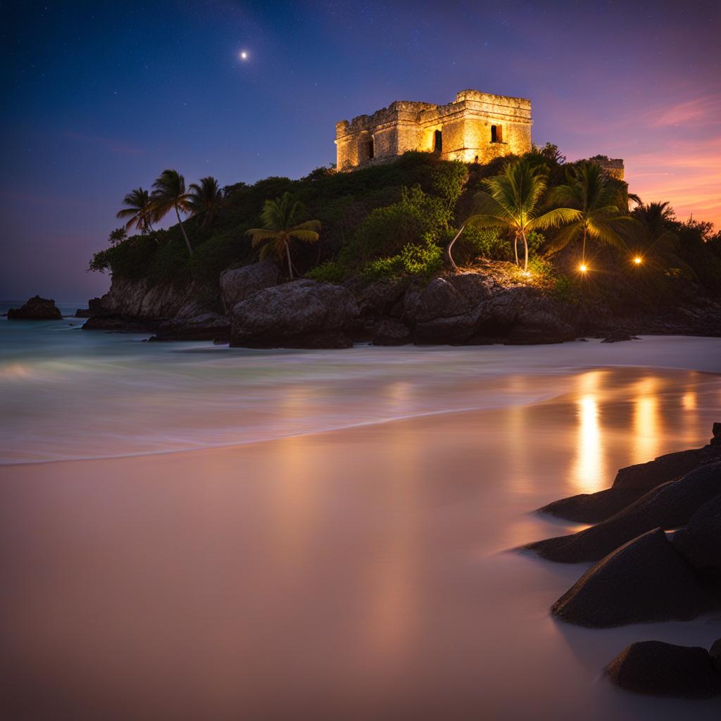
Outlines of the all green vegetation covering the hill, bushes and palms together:
[[[529,178],[534,190],[526,205],[514,204],[513,182]],[[659,308],[698,286],[721,293],[721,233],[712,234],[711,224],[677,221],[668,204],[642,205],[624,182],[589,162],[566,163],[552,145],[488,165],[407,153],[350,173],[318,168],[300,180],[269,177],[222,192],[208,177],[185,193],[182,176],[165,171],[154,187],[149,198],[141,188],[125,198],[122,217],[141,234],[123,238],[114,231],[114,244],[94,255],[90,270],[216,284],[222,270],[257,260],[248,231],[260,239],[260,229],[269,228],[266,201],[280,203],[288,193],[291,225],[301,235],[306,225],[320,228],[319,239],[283,235],[276,251],[286,255],[287,242],[293,269],[317,280],[428,278],[454,262],[510,262],[516,241],[528,246],[531,277],[568,301]],[[529,200],[532,216],[545,221],[528,223]],[[629,211],[629,204],[636,207]],[[152,229],[167,212],[190,218]],[[453,260],[447,252],[444,260],[457,235]],[[579,272],[581,259],[587,273]],[[283,267],[288,273],[287,260]],[[519,282],[531,282],[520,269],[513,272]]]

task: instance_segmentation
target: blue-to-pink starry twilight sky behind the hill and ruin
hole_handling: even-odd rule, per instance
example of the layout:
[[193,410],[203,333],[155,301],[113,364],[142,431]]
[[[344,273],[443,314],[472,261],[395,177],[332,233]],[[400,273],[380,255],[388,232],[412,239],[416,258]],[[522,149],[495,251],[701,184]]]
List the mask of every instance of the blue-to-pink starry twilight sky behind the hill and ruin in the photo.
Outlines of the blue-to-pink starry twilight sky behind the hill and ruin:
[[[133,187],[301,177],[335,122],[473,88],[536,143],[626,160],[643,200],[721,224],[721,2],[4,4],[0,298],[83,301]],[[247,59],[239,58],[246,50]]]

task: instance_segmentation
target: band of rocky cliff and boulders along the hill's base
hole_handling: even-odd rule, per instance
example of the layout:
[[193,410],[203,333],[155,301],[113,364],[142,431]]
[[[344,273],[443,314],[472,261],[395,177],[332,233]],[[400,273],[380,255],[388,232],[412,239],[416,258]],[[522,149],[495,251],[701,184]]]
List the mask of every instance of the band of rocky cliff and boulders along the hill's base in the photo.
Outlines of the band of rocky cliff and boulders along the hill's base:
[[721,306],[679,307],[660,316],[618,317],[608,307],[563,303],[540,288],[483,271],[342,285],[283,282],[263,261],[226,270],[216,288],[113,278],[90,302],[85,328],[150,330],[156,340],[231,340],[262,348],[559,343],[580,335],[721,335]]

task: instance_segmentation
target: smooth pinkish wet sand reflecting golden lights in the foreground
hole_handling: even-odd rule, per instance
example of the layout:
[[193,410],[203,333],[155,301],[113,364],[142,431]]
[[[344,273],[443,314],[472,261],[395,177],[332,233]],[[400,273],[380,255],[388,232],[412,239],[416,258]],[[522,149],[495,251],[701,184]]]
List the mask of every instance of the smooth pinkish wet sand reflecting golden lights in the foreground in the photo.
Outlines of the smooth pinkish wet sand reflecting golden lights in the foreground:
[[585,565],[513,551],[531,513],[707,442],[721,378],[603,368],[544,402],[235,448],[0,468],[14,718],[695,719],[614,689],[634,640],[549,606]]

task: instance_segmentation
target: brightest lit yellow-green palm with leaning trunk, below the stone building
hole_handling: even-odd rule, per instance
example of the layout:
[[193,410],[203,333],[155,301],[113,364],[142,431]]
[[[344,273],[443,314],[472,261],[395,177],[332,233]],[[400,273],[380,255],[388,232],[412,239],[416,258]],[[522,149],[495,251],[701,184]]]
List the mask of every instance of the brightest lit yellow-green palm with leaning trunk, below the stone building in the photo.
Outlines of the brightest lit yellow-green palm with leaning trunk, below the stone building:
[[547,230],[575,221],[579,211],[573,208],[555,208],[541,213],[539,205],[546,192],[547,181],[538,167],[526,160],[508,163],[500,175],[482,181],[487,188],[476,194],[476,213],[466,220],[461,230],[446,248],[451,265],[451,248],[466,225],[481,228],[504,228],[513,235],[513,252],[518,265],[518,239],[523,240],[523,272],[528,273],[528,241],[532,230]]

